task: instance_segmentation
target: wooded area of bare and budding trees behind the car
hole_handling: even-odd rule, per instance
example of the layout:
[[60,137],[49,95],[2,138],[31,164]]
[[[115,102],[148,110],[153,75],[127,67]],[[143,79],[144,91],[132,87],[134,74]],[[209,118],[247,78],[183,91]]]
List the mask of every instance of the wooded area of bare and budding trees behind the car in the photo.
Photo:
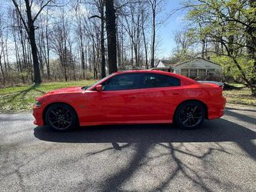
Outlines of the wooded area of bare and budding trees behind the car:
[[246,84],[255,95],[255,1],[190,0],[161,18],[165,3],[6,1],[0,8],[0,82],[96,79],[128,68],[154,68],[160,59],[158,26],[183,11],[186,25],[175,31],[169,59],[211,58],[223,66],[225,81]]

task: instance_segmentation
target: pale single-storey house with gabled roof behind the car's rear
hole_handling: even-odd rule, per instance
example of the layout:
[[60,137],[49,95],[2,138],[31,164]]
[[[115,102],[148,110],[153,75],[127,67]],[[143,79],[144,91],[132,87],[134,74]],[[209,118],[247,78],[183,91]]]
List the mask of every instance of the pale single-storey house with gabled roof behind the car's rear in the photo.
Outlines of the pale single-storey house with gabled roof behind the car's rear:
[[197,78],[201,80],[216,80],[220,79],[222,76],[221,65],[205,58],[195,58],[191,61],[177,64],[173,64],[169,60],[160,60],[155,69],[182,74],[188,78]]

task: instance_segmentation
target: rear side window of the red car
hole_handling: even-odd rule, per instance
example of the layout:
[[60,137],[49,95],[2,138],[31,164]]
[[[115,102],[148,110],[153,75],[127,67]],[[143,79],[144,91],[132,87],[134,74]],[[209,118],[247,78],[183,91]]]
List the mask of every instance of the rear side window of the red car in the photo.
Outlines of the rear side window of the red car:
[[142,88],[161,88],[180,85],[180,79],[163,74],[144,74],[142,79]]

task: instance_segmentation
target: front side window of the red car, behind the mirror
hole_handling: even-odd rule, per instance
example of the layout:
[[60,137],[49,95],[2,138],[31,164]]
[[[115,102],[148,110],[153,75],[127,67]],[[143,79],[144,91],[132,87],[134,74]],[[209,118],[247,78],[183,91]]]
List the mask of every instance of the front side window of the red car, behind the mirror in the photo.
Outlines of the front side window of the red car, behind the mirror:
[[103,91],[118,91],[139,88],[141,74],[118,74],[102,83]]

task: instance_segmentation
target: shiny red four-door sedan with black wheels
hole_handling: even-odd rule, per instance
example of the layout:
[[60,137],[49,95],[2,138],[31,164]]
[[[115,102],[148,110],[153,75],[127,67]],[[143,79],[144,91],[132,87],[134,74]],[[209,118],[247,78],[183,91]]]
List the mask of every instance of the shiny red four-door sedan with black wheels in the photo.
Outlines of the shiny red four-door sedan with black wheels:
[[165,71],[123,71],[90,87],[50,91],[36,99],[35,124],[67,131],[78,125],[166,124],[198,127],[224,114],[217,84],[202,84]]

